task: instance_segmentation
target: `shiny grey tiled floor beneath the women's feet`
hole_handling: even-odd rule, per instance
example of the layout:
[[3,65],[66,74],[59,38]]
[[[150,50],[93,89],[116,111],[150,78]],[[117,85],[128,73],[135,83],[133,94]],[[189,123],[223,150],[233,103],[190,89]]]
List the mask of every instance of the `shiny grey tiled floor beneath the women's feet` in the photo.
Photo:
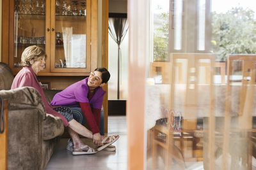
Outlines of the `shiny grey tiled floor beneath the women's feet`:
[[[127,128],[126,118],[115,116],[108,118],[108,134],[119,134],[120,138],[113,144],[116,152],[100,151],[93,155],[72,155],[66,150],[67,140],[62,138],[51,160],[47,164],[47,170],[125,170],[127,169]],[[87,139],[85,139],[87,140]]]

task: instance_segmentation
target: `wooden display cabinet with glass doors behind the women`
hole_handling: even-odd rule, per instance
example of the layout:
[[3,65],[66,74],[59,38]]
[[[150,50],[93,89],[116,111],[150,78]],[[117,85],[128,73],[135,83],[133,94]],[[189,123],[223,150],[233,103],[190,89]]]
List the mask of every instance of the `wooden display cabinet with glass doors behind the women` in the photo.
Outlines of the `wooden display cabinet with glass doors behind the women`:
[[31,45],[47,53],[39,76],[86,76],[97,67],[97,1],[4,0],[3,6],[9,8],[3,9],[8,36],[3,35],[2,59],[14,74]]

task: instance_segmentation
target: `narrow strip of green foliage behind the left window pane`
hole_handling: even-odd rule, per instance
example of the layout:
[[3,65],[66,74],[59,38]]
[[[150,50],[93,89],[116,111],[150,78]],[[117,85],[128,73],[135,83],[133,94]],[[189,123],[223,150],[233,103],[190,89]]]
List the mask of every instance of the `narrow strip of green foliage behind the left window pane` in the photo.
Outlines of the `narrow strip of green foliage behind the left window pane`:
[[154,61],[168,61],[169,13],[159,16],[161,27],[154,31]]

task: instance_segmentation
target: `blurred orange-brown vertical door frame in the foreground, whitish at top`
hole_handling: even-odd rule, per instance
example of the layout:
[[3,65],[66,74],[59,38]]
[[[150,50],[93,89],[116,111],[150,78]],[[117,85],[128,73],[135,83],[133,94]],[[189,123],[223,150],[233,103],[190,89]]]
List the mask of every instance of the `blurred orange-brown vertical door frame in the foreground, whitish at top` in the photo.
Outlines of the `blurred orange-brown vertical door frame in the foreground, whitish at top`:
[[129,21],[129,76],[127,99],[127,170],[145,169],[145,64],[148,57],[147,0],[127,1]]

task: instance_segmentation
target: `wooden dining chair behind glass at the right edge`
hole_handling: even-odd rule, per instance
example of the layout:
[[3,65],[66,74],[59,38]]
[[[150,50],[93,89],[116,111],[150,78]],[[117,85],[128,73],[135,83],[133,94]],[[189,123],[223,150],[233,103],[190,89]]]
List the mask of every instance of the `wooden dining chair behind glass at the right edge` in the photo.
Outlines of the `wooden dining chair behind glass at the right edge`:
[[[240,63],[241,81],[235,82],[236,65]],[[228,55],[227,57],[227,94],[225,102],[225,123],[223,134],[222,169],[228,169],[228,155],[231,158],[231,168],[243,167],[252,169],[252,117],[255,104],[256,55]],[[239,85],[239,86],[237,86]],[[232,93],[239,87],[238,110],[234,115],[232,110]],[[234,104],[233,104],[234,105]],[[234,125],[232,118],[237,118]],[[255,132],[254,132],[255,133]],[[234,138],[236,136],[236,138]],[[244,145],[246,143],[246,146]],[[235,146],[235,147],[230,147]],[[239,161],[237,161],[239,160]],[[241,161],[241,163],[239,163]]]

